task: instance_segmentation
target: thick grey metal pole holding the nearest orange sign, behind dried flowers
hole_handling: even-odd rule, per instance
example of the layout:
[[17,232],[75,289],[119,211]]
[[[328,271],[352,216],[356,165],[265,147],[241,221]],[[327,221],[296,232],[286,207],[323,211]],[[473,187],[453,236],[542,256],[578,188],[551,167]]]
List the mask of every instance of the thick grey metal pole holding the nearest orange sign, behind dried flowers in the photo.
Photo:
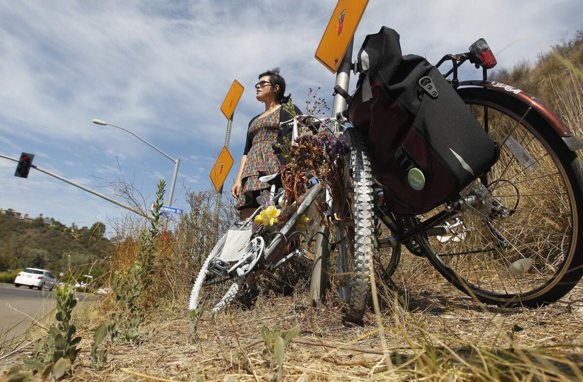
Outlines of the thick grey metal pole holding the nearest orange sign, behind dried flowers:
[[[354,43],[354,37],[350,40],[346,53],[342,58],[342,62],[336,72],[336,85],[340,85],[342,89],[348,92],[348,85],[350,83],[350,70],[352,69],[352,45]],[[336,117],[336,114],[340,111],[346,110],[346,100],[340,94],[334,96],[332,103],[332,117]],[[340,125],[336,125],[336,131],[341,131]],[[327,191],[326,191],[327,192]],[[312,299],[312,304],[315,304],[317,300],[324,297],[324,290],[326,289],[326,277],[322,277],[322,274],[328,273],[328,239],[330,231],[328,228],[323,229],[324,235],[318,235],[315,249],[316,249],[316,261],[314,262],[314,268],[312,268],[312,276],[310,279],[310,297]],[[325,241],[324,241],[325,240]],[[323,242],[324,241],[324,242]],[[343,270],[342,272],[346,272]]]

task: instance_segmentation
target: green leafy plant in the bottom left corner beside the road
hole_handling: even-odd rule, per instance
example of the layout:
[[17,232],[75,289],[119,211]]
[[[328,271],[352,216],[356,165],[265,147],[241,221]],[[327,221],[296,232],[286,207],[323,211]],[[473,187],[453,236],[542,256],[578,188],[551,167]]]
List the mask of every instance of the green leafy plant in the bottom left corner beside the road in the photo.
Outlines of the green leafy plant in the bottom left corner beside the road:
[[57,300],[57,325],[51,325],[44,342],[39,339],[34,344],[34,351],[24,360],[24,366],[33,374],[40,372],[43,379],[52,375],[55,380],[59,380],[71,370],[79,353],[77,345],[81,337],[75,337],[76,328],[71,323],[71,313],[77,304],[75,290],[63,284],[57,286],[53,294]]

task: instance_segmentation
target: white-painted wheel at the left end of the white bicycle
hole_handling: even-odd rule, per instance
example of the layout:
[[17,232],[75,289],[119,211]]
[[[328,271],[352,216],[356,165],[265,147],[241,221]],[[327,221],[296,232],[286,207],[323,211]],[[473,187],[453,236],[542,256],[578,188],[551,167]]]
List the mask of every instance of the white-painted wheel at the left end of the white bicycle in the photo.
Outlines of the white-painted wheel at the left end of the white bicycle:
[[[224,234],[202,264],[192,286],[188,310],[210,310],[216,313],[233,303],[243,291],[245,281],[243,277],[222,281],[220,278],[224,279],[224,276],[216,275],[209,270],[210,261],[220,255],[226,239],[227,234]],[[213,284],[215,281],[218,283]]]

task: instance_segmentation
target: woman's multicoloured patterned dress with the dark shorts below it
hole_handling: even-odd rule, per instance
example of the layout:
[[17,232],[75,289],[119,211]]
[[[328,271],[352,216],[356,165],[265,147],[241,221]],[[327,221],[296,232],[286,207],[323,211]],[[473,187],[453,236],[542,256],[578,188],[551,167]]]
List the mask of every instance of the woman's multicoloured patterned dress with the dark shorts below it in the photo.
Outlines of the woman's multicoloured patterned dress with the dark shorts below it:
[[[259,190],[269,188],[259,181],[259,177],[275,174],[279,171],[278,160],[271,144],[278,138],[279,108],[262,118],[255,118],[249,127],[253,137],[251,149],[247,153],[247,160],[241,176],[241,194],[237,200],[237,208],[255,205],[255,196]],[[255,191],[255,192],[254,192]]]

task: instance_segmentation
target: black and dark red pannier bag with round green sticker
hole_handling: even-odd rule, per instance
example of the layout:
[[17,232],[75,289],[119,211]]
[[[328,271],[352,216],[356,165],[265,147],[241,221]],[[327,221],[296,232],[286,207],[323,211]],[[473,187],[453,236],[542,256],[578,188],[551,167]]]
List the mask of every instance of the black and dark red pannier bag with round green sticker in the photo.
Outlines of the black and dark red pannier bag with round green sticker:
[[368,35],[357,65],[348,119],[366,136],[390,211],[418,215],[458,199],[496,163],[498,145],[435,66],[403,57],[395,30]]

